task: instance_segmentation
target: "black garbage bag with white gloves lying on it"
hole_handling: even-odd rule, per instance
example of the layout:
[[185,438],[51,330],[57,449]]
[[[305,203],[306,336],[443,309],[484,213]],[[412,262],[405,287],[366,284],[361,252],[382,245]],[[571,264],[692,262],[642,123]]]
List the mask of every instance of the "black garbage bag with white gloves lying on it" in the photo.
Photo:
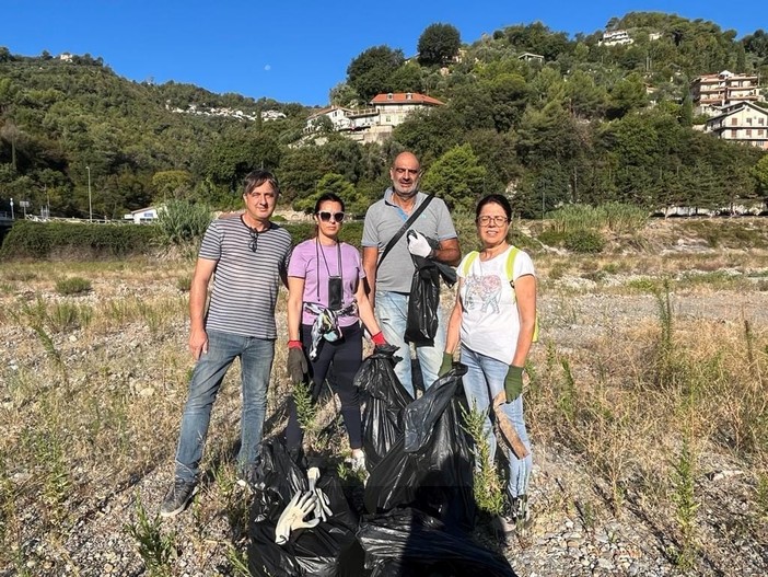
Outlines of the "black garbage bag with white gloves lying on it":
[[333,515],[312,529],[291,532],[288,543],[275,543],[277,521],[296,491],[309,482],[279,439],[265,441],[254,473],[248,569],[251,575],[281,577],[357,577],[363,575],[356,541],[357,511],[350,506],[334,471],[321,471],[317,486],[328,496]]

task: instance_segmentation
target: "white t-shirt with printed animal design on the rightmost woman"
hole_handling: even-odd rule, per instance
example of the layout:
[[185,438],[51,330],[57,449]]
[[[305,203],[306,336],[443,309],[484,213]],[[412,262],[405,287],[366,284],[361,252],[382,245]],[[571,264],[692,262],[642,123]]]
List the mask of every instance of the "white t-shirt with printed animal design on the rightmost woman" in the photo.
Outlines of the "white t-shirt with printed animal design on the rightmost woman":
[[[520,314],[507,275],[507,258],[512,250],[489,261],[481,262],[480,255],[469,265],[465,274],[466,255],[456,273],[464,281],[459,297],[462,315],[462,344],[475,353],[480,353],[503,362],[512,362],[520,333]],[[536,275],[533,261],[527,253],[520,251],[514,258],[512,279],[524,275]]]

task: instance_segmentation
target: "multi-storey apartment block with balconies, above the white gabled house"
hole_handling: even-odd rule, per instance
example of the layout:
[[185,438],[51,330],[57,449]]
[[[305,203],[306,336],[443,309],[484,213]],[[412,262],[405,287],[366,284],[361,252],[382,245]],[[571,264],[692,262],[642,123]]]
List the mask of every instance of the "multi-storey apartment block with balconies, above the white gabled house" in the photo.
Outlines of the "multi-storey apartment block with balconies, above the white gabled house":
[[703,74],[690,83],[694,114],[719,115],[721,108],[740,102],[763,100],[757,74],[734,74],[723,70],[719,74]]

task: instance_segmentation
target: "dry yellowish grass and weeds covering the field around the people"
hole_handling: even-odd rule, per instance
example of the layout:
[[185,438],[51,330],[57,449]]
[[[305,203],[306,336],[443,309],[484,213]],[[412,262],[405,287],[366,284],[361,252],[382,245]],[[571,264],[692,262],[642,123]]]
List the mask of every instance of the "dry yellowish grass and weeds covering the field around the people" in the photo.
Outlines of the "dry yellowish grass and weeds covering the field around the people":
[[[668,532],[680,566],[702,546],[696,501],[683,498],[690,484],[683,482],[680,463],[700,476],[712,455],[735,462],[759,507],[733,522],[760,527],[768,510],[768,328],[757,308],[764,309],[767,299],[757,282],[706,275],[691,282],[680,273],[759,273],[768,257],[749,252],[583,259],[537,255],[535,262],[543,343],[531,358],[526,412],[536,443],[566,446],[580,455],[613,513],[643,510]],[[568,282],[596,270],[618,281]],[[83,515],[93,515],[83,513],[83,504],[130,491],[155,470],[170,474],[191,368],[188,296],[181,288],[190,272],[187,262],[3,264],[0,566],[28,575],[35,574],[25,568],[30,558],[45,559],[53,564],[50,574],[59,574],[73,563],[67,561],[65,542]],[[56,279],[74,275],[93,289],[57,295]],[[665,295],[653,293],[662,277],[672,279],[666,312]],[[647,280],[642,290],[628,285],[637,278]],[[752,299],[753,308],[749,299],[741,300],[747,305],[733,304],[744,291],[761,299]],[[579,300],[605,296],[645,308],[587,310]],[[686,309],[689,301],[680,303],[683,297],[700,298],[720,316]],[[284,295],[277,314],[282,323]],[[267,434],[284,424],[290,388],[282,348],[276,351]],[[236,372],[222,388],[202,463],[214,482],[190,511],[197,535],[190,543],[202,556],[229,555],[247,527],[234,488]],[[326,405],[319,418],[327,425],[336,414],[333,404]],[[342,434],[314,437],[312,443],[339,459],[346,451]],[[593,524],[598,504],[587,495],[571,500],[568,506],[575,504],[584,526]],[[156,508],[144,506],[150,516]],[[230,540],[211,541],[206,535],[222,511]],[[144,521],[150,531],[151,519]]]

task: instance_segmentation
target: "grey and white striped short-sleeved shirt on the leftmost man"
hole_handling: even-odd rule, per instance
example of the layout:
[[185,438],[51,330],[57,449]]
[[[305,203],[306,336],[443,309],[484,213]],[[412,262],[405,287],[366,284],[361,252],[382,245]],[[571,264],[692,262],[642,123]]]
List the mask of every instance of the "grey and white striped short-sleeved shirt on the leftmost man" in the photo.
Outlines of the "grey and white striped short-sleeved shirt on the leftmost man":
[[275,304],[280,275],[288,268],[290,233],[275,224],[256,235],[241,218],[211,222],[200,246],[200,258],[216,261],[213,289],[206,330],[257,338],[277,338]]

